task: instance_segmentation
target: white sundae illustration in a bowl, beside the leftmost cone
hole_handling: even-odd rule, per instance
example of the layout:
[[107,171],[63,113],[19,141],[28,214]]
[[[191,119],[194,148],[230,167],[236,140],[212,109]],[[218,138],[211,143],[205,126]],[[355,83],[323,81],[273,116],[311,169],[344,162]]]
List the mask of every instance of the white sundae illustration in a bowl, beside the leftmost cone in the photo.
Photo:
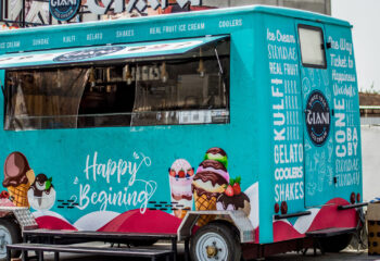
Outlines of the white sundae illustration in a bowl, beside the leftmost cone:
[[49,210],[55,202],[55,189],[52,178],[45,174],[37,175],[36,181],[28,190],[28,199],[31,208],[36,210]]

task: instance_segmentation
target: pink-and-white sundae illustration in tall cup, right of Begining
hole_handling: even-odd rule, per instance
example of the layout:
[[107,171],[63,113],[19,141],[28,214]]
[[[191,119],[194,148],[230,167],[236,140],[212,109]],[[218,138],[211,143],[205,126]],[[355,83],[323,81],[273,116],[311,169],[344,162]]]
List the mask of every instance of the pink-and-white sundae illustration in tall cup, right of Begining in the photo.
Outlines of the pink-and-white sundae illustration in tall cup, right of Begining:
[[168,170],[172,202],[174,206],[174,214],[183,219],[187,210],[192,208],[191,183],[194,176],[194,169],[191,167],[187,160],[178,159],[173,162]]

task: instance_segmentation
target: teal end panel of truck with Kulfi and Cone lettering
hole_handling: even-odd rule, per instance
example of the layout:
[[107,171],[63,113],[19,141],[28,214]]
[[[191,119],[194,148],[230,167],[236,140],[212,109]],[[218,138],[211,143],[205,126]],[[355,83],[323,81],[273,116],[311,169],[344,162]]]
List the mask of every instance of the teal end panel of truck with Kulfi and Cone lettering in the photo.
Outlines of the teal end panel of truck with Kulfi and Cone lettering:
[[[315,229],[354,227],[355,210],[337,210],[338,206],[350,203],[350,195],[362,195],[358,95],[350,28],[274,15],[267,15],[264,24],[266,45],[263,50],[266,49],[268,55],[264,61],[268,66],[273,113],[274,186],[269,187],[273,201],[262,206],[261,211],[266,213],[264,219],[309,211],[303,216],[274,221],[273,241],[304,237]],[[303,66],[299,24],[313,29],[319,27],[324,33],[326,28],[324,45],[334,37],[339,40],[333,40],[345,42],[339,50],[325,47],[325,69]],[[340,60],[334,63],[335,57]],[[346,61],[346,67],[342,61]],[[328,99],[318,100],[319,94]],[[308,113],[314,113],[313,108],[307,107],[311,99],[314,104],[327,101],[331,117],[327,121],[330,129],[320,144],[318,137],[314,141],[309,138],[314,127],[307,122]],[[317,114],[313,115],[318,125]],[[319,196],[313,198],[315,192]],[[314,201],[307,201],[311,198]],[[261,229],[261,238],[262,233],[270,240],[270,232]]]

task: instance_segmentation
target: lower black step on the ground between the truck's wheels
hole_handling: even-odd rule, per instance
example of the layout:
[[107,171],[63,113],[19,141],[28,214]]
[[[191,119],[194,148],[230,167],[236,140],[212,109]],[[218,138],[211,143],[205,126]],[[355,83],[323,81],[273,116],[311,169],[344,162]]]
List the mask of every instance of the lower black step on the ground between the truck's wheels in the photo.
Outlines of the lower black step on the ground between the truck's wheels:
[[21,250],[23,252],[23,260],[28,260],[27,251],[34,250],[38,252],[38,260],[43,261],[43,252],[54,252],[54,261],[60,260],[60,252],[72,253],[90,253],[104,256],[118,256],[130,258],[149,258],[152,261],[156,258],[165,257],[166,260],[174,259],[173,250],[165,249],[142,249],[142,248],[102,248],[102,247],[78,247],[69,245],[45,245],[45,244],[14,244],[7,246],[8,260],[11,260],[12,250]]

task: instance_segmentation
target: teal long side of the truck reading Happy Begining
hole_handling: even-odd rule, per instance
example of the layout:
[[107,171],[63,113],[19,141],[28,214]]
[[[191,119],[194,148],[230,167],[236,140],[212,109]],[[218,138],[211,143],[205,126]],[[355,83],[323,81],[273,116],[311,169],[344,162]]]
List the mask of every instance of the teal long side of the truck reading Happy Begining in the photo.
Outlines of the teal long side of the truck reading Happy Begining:
[[[210,34],[227,34],[231,38],[228,124],[1,130],[0,138],[7,141],[0,151],[0,162],[4,163],[10,157],[8,162],[12,169],[12,159],[21,152],[37,177],[46,176],[47,181],[41,181],[42,190],[47,187],[49,191],[54,190],[54,197],[49,197],[53,201],[49,208],[41,207],[47,204],[39,202],[31,188],[27,190],[28,200],[39,202],[39,207],[34,204],[31,210],[41,227],[176,233],[183,215],[175,211],[183,206],[172,202],[168,169],[179,173],[191,172],[193,167],[197,173],[206,151],[218,147],[227,153],[223,162],[229,177],[241,176],[241,190],[249,198],[248,215],[257,228],[258,173],[255,170],[258,151],[255,144],[258,137],[254,134],[258,126],[254,124],[255,108],[246,110],[256,99],[252,86],[253,15],[200,15],[197,21],[189,16],[168,17],[154,24],[132,21],[127,26],[122,26],[121,22],[101,23],[98,27],[84,24],[78,25],[76,32],[38,28],[36,30],[41,34],[14,32],[8,38],[8,41],[20,41],[18,47],[8,51],[62,48],[62,41],[69,40],[74,41],[71,46],[88,46]],[[106,35],[112,37],[106,39]],[[118,39],[121,35],[123,39]],[[191,189],[191,181],[172,179]],[[4,189],[13,188],[5,186]],[[194,201],[195,197],[191,196],[193,210]],[[215,210],[215,206],[210,210]]]

